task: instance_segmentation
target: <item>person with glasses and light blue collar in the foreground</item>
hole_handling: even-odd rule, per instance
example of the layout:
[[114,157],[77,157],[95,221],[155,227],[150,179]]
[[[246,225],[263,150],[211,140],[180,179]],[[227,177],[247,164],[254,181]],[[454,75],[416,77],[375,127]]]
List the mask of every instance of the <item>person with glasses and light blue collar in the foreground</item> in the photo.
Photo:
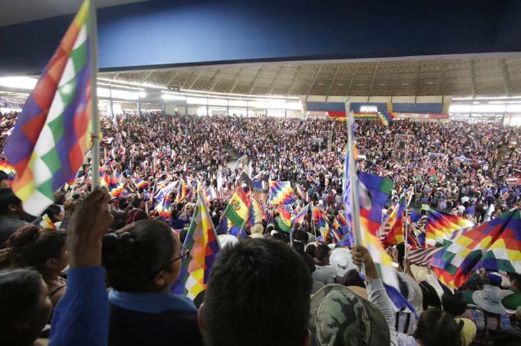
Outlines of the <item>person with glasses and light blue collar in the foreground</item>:
[[203,345],[196,306],[170,290],[187,256],[178,234],[159,220],[134,222],[104,236],[109,345]]

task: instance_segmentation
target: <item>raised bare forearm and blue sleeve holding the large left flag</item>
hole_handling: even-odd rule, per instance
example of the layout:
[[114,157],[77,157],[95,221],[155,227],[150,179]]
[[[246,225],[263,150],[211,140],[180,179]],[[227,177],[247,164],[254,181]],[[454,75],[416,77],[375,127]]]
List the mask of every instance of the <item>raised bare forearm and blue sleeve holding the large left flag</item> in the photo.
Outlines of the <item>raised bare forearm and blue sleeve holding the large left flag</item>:
[[113,220],[109,201],[107,191],[97,189],[70,217],[68,286],[54,310],[51,346],[107,345],[109,301],[101,267],[101,240]]

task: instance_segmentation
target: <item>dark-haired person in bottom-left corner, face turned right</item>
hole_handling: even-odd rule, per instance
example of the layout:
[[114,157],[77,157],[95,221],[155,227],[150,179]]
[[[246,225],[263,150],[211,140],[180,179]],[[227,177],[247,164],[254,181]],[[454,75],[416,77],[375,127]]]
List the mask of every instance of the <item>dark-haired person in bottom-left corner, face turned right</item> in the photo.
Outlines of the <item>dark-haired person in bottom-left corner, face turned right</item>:
[[0,338],[2,345],[37,346],[52,311],[47,285],[34,270],[0,272]]

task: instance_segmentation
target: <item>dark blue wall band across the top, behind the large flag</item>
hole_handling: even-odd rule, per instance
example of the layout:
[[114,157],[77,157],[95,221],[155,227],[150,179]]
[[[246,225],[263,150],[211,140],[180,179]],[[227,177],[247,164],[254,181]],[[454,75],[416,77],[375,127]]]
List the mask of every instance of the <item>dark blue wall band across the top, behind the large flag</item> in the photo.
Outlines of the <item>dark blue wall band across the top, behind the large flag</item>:
[[[98,10],[98,65],[521,51],[520,17],[513,0],[147,1]],[[0,28],[0,74],[38,74],[71,18]]]

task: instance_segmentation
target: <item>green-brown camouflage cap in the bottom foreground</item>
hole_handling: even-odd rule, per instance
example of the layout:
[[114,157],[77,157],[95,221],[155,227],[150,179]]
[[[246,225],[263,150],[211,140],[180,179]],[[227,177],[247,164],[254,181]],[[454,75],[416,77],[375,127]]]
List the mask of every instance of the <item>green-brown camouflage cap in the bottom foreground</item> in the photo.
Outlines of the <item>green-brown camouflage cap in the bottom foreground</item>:
[[380,309],[349,288],[331,284],[311,296],[311,333],[320,346],[389,346]]

